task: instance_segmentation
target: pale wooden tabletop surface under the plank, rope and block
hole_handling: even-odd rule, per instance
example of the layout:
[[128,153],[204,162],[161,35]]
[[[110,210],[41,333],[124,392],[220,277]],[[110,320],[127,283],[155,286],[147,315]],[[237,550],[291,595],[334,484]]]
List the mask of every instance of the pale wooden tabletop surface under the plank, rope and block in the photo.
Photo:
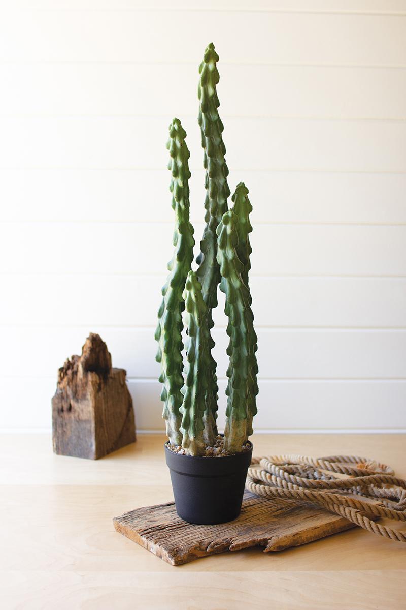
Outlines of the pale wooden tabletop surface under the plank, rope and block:
[[[47,435],[0,437],[0,608],[402,610],[406,548],[361,529],[280,553],[172,567],[112,519],[172,499],[163,436],[97,462],[54,456]],[[254,455],[359,454],[406,477],[403,435],[257,435]]]

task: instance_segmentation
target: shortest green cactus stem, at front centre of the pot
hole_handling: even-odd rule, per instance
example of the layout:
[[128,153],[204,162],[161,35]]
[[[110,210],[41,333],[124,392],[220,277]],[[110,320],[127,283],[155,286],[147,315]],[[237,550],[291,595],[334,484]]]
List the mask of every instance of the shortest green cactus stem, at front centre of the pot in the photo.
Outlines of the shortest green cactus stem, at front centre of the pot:
[[[201,456],[205,453],[206,445],[213,446],[215,443],[215,422],[209,421],[207,426],[214,406],[206,402],[208,389],[212,385],[215,362],[211,355],[207,306],[203,301],[201,284],[195,271],[189,271],[187,275],[183,298],[186,304],[187,339],[183,403],[180,408],[183,415],[180,428],[183,434],[182,447],[191,456]],[[211,436],[207,436],[207,431]]]

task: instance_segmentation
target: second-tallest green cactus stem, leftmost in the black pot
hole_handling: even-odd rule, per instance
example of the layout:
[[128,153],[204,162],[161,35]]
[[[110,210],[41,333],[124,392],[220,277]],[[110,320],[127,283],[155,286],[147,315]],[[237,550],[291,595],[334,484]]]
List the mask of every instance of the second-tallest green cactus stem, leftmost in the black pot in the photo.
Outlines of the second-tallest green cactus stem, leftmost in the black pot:
[[164,402],[163,418],[170,443],[181,445],[180,431],[183,402],[183,330],[182,312],[184,310],[183,289],[193,260],[194,229],[189,221],[189,171],[186,132],[180,120],[173,119],[169,126],[169,140],[166,148],[170,160],[168,169],[172,173],[170,192],[172,208],[175,211],[175,231],[173,246],[175,252],[167,265],[169,275],[162,289],[163,300],[158,311],[158,326],[155,339],[158,342],[156,361],[161,363],[159,381],[163,384],[161,400]]

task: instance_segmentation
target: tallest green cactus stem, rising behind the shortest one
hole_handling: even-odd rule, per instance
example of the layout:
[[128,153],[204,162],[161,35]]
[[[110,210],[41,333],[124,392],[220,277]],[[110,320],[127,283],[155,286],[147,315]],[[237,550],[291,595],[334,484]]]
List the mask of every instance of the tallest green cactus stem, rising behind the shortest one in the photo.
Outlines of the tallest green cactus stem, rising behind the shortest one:
[[217,306],[217,286],[220,283],[220,270],[217,263],[217,225],[228,209],[227,199],[230,191],[227,183],[228,167],[225,161],[223,142],[223,123],[219,117],[220,106],[216,85],[220,81],[217,62],[219,56],[210,43],[205,50],[203,62],[199,66],[198,123],[201,132],[201,145],[204,149],[203,163],[205,173],[205,229],[200,242],[201,252],[197,257],[197,275],[203,287],[203,298],[208,306],[208,324],[212,328],[211,310]]

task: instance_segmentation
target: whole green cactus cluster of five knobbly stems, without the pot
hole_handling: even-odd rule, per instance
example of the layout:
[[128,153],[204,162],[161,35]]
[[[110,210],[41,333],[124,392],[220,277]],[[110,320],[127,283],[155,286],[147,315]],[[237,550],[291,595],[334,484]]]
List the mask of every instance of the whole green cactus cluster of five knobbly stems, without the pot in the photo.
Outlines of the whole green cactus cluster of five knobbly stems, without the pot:
[[[219,56],[210,44],[199,67],[198,85],[201,143],[205,167],[205,228],[197,257],[197,271],[191,270],[194,229],[189,221],[188,167],[184,131],[178,119],[169,126],[170,191],[175,211],[175,252],[168,264],[169,275],[163,287],[158,312],[156,360],[161,364],[161,400],[170,446],[191,456],[207,455],[219,444],[217,436],[217,377],[211,350],[214,341],[212,309],[217,306],[217,289],[225,293],[226,332],[229,336],[226,371],[226,426],[223,454],[240,453],[247,447],[256,414],[257,337],[253,328],[248,274],[251,268],[252,231],[248,188],[240,182],[228,210],[223,123],[219,117]],[[183,367],[182,314],[186,307],[186,364]],[[183,370],[184,368],[184,370]]]

